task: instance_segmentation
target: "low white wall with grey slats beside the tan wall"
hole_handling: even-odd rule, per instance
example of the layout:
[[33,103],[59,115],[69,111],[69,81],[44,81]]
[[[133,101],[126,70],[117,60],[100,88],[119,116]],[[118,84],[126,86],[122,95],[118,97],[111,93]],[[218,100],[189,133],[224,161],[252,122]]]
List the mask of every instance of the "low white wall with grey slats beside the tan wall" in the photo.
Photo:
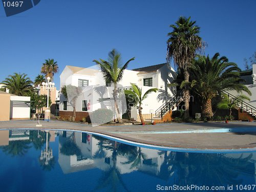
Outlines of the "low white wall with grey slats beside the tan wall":
[[10,118],[30,118],[30,97],[11,96]]

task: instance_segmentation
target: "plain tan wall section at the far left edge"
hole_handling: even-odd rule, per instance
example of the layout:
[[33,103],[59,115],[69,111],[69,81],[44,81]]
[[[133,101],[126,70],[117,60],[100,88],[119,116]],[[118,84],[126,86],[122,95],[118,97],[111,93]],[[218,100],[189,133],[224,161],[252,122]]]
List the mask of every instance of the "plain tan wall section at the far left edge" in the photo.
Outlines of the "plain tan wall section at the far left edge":
[[0,121],[10,120],[10,94],[0,93]]

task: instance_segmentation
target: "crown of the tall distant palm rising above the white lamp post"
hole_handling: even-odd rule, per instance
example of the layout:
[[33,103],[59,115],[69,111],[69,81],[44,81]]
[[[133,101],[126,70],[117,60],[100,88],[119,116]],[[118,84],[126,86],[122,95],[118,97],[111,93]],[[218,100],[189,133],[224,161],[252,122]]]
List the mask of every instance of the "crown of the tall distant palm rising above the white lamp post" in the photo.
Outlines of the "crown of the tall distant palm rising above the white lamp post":
[[54,74],[58,73],[59,69],[57,61],[54,61],[54,59],[46,59],[45,61],[45,63],[42,63],[41,73],[53,79]]

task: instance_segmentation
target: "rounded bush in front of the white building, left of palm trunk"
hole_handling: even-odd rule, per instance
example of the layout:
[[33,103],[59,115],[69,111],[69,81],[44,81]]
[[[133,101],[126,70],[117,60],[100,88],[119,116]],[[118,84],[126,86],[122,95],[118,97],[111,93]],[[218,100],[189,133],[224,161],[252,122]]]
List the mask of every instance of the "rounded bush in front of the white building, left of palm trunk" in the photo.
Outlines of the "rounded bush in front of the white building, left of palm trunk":
[[114,113],[109,109],[98,109],[90,115],[91,122],[97,124],[111,122],[113,117]]

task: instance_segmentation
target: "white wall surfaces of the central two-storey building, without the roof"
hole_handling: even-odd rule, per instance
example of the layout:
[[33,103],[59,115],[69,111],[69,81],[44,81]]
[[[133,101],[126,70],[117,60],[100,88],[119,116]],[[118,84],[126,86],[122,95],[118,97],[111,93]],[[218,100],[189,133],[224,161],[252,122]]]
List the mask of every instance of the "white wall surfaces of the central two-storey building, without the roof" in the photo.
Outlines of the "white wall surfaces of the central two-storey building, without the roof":
[[[91,110],[88,112],[95,111],[100,108],[105,108],[106,102],[100,103],[98,100],[101,98],[99,94],[97,94],[94,89],[98,86],[105,86],[105,80],[103,79],[103,76],[99,70],[97,73],[93,73],[92,75],[81,75],[81,74],[72,74],[73,72],[66,67],[63,72],[60,75],[60,84],[61,87],[65,84],[72,84],[73,86],[78,86],[78,79],[86,79],[89,80],[89,87],[87,91],[84,91],[81,96],[77,98],[77,105],[76,105],[76,111],[81,111],[81,104],[82,100],[87,100],[87,102],[91,103]],[[153,87],[145,87],[143,86],[143,78],[153,78]],[[173,92],[171,88],[167,87],[167,84],[172,82],[174,79],[174,72],[170,72],[167,65],[163,66],[156,72],[151,73],[141,73],[137,71],[131,71],[131,70],[124,70],[122,80],[118,83],[118,87],[130,87],[131,83],[137,84],[139,87],[142,87],[143,94],[151,88],[158,88],[162,89],[165,92],[167,92],[170,96],[173,95]],[[91,87],[96,86],[96,87]],[[109,91],[106,91],[106,93],[103,95],[103,98],[112,98],[113,95],[113,87],[107,87]],[[157,96],[159,95],[159,92],[157,93],[151,93],[148,95],[148,97],[142,102],[142,114],[150,114],[150,110],[153,109],[154,111],[159,108],[163,104],[162,101],[157,100]],[[67,100],[63,95],[60,96],[60,111],[63,110],[63,100]],[[109,101],[110,102],[110,101]],[[110,106],[106,107],[108,109],[113,110]],[[73,111],[72,106],[68,103],[67,111]],[[138,110],[133,110],[138,114]]]

